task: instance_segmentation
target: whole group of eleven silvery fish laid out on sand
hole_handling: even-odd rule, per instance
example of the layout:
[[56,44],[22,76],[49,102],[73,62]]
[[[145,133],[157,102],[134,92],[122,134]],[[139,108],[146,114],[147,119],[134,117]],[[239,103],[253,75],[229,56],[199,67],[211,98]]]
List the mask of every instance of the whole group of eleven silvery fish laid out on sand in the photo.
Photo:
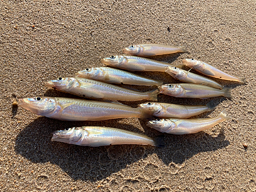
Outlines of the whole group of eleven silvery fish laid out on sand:
[[[62,97],[19,98],[18,106],[22,106],[37,115],[66,121],[100,121],[108,119],[138,117],[148,119],[147,126],[162,133],[190,134],[215,126],[221,121],[231,119],[226,111],[214,118],[187,119],[214,109],[212,102],[206,105],[177,105],[171,103],[152,102],[158,94],[182,98],[210,98],[225,96],[231,98],[230,90],[207,77],[183,70],[184,65],[203,75],[245,82],[244,78],[228,75],[205,62],[184,59],[184,65],[173,66],[170,63],[145,58],[146,56],[187,52],[184,47],[172,47],[159,44],[132,45],[123,49],[127,55],[116,55],[101,59],[105,65],[115,67],[87,68],[73,77],[60,77],[45,83],[46,87],[70,93],[84,98],[103,99],[101,101],[73,99]],[[140,56],[140,57],[138,57]],[[164,84],[139,76],[129,71],[166,72],[170,76],[186,83]],[[148,92],[125,89],[114,84],[132,84],[138,86],[157,86]],[[137,108],[124,105],[118,101],[150,100],[139,104]],[[142,144],[163,146],[163,136],[147,137],[130,131],[111,127],[83,126],[56,131],[52,141],[60,141],[83,146],[102,146],[114,144]]]

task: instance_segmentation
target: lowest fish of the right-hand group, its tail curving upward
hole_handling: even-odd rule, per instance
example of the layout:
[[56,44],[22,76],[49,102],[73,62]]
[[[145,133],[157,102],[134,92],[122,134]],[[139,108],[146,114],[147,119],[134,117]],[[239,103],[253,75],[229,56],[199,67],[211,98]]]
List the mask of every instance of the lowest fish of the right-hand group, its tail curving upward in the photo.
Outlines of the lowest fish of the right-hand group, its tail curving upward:
[[219,122],[231,119],[226,116],[226,111],[221,112],[217,117],[213,118],[200,118],[200,119],[157,119],[149,121],[146,125],[156,129],[162,133],[183,135],[197,133],[212,126],[217,125]]

